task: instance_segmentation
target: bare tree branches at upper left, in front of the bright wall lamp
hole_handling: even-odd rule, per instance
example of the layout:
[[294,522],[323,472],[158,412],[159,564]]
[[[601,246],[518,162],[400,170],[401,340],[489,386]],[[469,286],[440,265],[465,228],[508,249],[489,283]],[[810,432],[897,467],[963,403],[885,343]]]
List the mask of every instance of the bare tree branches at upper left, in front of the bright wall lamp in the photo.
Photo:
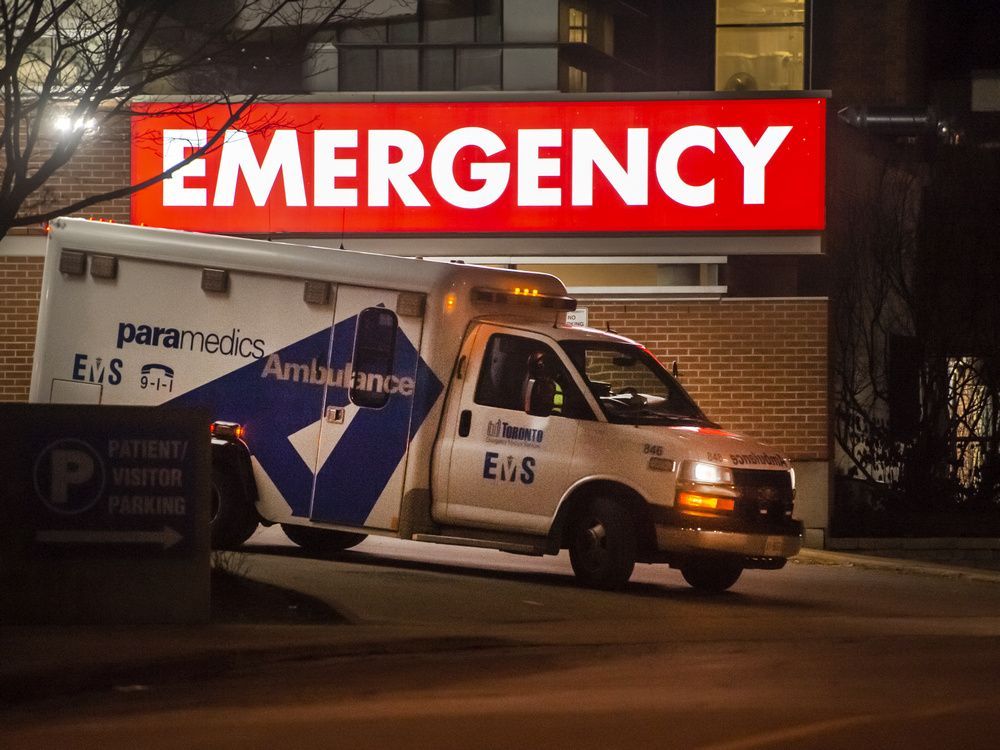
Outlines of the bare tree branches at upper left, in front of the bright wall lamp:
[[[239,104],[206,144],[170,172],[216,148],[223,131],[267,93],[273,69],[300,70],[308,42],[368,17],[370,0],[0,0],[0,237],[121,198],[169,177],[53,203],[46,185],[137,97],[177,92]],[[280,44],[269,44],[280,31]],[[294,93],[287,91],[286,93]],[[273,84],[272,84],[273,85]],[[195,117],[197,108],[185,112]],[[55,129],[56,117],[67,127]]]

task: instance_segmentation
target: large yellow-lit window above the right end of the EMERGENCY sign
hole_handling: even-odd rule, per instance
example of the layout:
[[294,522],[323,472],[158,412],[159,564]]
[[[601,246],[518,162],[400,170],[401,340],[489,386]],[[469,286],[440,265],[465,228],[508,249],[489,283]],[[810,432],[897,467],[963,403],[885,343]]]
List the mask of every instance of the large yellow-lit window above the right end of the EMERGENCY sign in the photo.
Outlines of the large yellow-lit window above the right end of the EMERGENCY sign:
[[717,91],[796,91],[805,85],[805,0],[717,0]]

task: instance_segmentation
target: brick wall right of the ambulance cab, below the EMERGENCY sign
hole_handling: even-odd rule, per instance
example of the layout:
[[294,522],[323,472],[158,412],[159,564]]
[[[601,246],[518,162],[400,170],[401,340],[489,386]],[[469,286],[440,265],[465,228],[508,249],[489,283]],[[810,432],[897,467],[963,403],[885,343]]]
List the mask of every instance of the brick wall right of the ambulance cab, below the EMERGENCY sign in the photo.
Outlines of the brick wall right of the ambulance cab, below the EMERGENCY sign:
[[708,416],[797,460],[827,460],[827,302],[584,303],[589,324],[641,341]]

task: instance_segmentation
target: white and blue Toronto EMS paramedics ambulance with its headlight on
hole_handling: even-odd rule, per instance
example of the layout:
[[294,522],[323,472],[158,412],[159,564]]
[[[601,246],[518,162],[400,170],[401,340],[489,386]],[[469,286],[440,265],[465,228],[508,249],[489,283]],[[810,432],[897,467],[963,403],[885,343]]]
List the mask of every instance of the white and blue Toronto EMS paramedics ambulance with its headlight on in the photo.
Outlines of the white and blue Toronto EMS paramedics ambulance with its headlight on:
[[568,549],[608,589],[783,566],[788,460],[574,307],[544,274],[58,219],[31,400],[207,406],[217,547]]

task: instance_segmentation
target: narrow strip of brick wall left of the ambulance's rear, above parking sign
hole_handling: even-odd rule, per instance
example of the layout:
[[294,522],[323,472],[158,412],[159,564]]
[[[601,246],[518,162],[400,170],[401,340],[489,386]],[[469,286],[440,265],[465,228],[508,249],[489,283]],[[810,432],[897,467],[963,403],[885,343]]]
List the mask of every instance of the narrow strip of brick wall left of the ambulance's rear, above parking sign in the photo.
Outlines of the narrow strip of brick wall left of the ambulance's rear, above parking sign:
[[42,258],[0,255],[0,401],[27,401]]

